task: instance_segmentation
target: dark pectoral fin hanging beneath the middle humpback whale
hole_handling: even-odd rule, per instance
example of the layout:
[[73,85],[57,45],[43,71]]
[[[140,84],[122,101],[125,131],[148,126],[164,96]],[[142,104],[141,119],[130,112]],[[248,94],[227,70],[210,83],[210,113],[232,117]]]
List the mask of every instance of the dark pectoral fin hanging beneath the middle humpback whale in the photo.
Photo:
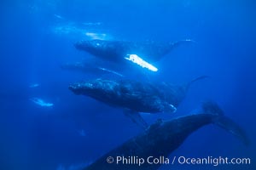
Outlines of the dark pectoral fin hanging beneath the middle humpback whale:
[[148,123],[143,120],[143,117],[137,111],[124,110],[125,116],[131,118],[132,122],[135,122],[139,127],[143,127],[146,129],[148,127]]

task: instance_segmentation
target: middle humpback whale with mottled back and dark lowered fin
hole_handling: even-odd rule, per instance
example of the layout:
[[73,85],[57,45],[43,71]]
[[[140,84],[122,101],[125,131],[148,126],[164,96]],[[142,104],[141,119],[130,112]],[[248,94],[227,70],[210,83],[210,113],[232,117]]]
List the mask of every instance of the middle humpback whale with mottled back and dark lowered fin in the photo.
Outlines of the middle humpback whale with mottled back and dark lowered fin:
[[75,82],[69,86],[74,94],[82,94],[110,106],[123,108],[125,115],[131,117],[142,127],[147,123],[139,112],[176,112],[177,106],[185,98],[189,86],[207,76],[195,78],[183,85],[169,83],[137,82],[133,80],[93,79]]

